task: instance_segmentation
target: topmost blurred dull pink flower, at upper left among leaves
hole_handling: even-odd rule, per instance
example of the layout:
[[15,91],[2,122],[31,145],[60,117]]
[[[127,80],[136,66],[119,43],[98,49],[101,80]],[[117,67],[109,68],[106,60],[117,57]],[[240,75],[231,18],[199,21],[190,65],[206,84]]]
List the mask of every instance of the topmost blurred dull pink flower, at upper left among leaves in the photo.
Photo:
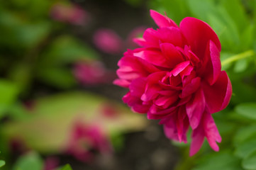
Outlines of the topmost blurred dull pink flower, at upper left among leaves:
[[83,25],[89,20],[89,14],[73,4],[56,3],[52,6],[50,14],[56,21],[74,25]]

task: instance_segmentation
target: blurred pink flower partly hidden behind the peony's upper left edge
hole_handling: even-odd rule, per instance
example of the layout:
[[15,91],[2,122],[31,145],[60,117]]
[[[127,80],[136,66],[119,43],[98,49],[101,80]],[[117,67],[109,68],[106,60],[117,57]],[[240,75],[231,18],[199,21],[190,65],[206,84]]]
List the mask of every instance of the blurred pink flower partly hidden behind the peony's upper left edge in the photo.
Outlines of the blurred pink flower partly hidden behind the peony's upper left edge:
[[145,26],[140,26],[137,28],[134,28],[130,33],[128,34],[128,37],[126,39],[126,46],[130,48],[139,47],[138,44],[136,44],[133,40],[134,38],[138,38],[143,35],[147,28]]

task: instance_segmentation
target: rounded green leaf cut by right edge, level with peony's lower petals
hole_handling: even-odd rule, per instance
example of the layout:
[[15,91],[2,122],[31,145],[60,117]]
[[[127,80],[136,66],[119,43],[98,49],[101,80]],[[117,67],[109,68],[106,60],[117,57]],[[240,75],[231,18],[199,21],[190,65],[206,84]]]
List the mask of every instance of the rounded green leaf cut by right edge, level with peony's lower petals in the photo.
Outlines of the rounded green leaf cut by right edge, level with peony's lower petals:
[[235,107],[235,111],[246,118],[256,120],[256,103],[241,103]]

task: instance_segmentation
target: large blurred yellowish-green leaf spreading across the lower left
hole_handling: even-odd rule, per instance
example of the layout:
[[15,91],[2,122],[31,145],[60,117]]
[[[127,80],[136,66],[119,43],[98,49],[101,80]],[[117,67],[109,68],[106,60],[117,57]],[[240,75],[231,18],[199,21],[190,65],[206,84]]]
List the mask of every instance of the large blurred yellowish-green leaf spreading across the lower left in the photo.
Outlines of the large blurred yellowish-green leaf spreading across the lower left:
[[[104,115],[105,106],[115,111],[113,117]],[[107,135],[142,130],[146,125],[144,115],[131,113],[108,98],[80,91],[36,100],[28,119],[6,123],[2,131],[8,139],[18,137],[32,149],[57,153],[67,147],[77,121],[99,125]]]

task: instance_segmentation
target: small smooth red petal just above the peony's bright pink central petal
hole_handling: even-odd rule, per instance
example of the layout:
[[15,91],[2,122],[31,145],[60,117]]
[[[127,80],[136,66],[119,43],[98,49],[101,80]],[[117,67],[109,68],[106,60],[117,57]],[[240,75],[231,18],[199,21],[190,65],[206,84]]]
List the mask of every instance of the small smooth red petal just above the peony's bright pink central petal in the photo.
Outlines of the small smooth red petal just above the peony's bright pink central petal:
[[174,47],[174,45],[165,42],[160,45],[160,49],[162,54],[167,59],[170,68],[175,67],[180,62],[184,62],[182,54],[179,52],[179,50],[177,50],[176,47]]

